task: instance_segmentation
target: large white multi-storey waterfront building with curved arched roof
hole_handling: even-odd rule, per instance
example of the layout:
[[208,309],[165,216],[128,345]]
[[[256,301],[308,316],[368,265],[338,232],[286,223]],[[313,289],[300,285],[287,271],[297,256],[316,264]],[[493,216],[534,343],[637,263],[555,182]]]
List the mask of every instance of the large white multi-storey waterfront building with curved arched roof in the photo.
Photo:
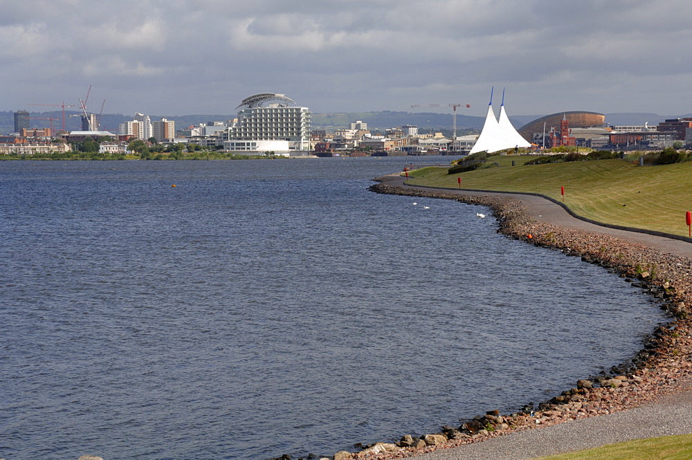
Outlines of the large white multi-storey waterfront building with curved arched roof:
[[310,149],[311,113],[307,107],[298,106],[283,94],[260,93],[245,98],[237,109],[237,126],[228,128],[221,137],[224,149],[255,146],[264,151],[260,145],[266,143],[258,141],[286,141],[289,151]]

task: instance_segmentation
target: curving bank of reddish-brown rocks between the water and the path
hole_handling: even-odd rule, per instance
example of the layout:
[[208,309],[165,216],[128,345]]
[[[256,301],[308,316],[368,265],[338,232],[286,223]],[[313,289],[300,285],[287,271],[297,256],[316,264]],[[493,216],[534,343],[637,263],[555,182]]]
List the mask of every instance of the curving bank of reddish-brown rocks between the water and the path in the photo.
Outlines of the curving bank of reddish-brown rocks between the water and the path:
[[[644,348],[627,363],[609,373],[585,377],[550,401],[522,412],[501,415],[489,410],[458,427],[444,426],[424,436],[403,436],[397,443],[356,445],[360,452],[337,452],[334,460],[395,459],[412,457],[442,448],[477,443],[510,432],[530,430],[564,421],[610,414],[637,407],[663,394],[674,393],[680,383],[692,378],[692,261],[685,257],[608,237],[565,230],[528,217],[521,201],[502,196],[464,196],[441,190],[412,189],[387,185],[388,176],[375,179],[376,193],[453,199],[491,208],[500,223],[498,232],[529,244],[561,250],[567,256],[599,264],[626,278],[635,288],[653,297],[671,314],[671,322],[658,326]],[[288,456],[280,458],[290,458]],[[316,457],[313,457],[316,458]]]

